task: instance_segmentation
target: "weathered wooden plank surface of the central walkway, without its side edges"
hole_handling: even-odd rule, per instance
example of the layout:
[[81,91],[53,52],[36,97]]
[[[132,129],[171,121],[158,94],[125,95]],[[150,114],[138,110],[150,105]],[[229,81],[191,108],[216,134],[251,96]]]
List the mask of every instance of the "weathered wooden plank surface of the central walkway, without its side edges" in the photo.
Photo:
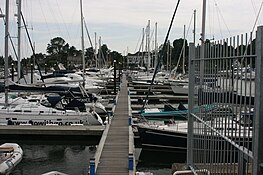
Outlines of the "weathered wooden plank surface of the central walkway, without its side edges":
[[[129,174],[129,109],[126,76],[122,78],[120,92],[109,125],[96,175]],[[104,136],[102,136],[104,137]]]

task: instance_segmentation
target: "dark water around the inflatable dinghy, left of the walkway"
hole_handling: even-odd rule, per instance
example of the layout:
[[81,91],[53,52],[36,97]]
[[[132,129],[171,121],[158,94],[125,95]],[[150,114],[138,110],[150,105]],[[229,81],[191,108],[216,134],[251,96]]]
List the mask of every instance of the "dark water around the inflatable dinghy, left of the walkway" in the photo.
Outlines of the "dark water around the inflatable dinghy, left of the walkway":
[[[1,140],[0,143],[15,142],[23,149],[23,159],[11,175],[41,175],[59,171],[69,175],[87,175],[89,160],[96,151],[98,140],[85,142],[68,140],[14,139]],[[96,144],[94,144],[96,143]]]

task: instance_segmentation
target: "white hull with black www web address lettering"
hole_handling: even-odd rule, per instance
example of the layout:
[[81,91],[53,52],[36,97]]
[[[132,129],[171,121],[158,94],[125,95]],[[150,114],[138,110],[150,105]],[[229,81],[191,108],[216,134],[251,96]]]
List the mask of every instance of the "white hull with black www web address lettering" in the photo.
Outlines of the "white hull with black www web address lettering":
[[102,125],[96,112],[58,110],[36,103],[0,106],[1,125]]

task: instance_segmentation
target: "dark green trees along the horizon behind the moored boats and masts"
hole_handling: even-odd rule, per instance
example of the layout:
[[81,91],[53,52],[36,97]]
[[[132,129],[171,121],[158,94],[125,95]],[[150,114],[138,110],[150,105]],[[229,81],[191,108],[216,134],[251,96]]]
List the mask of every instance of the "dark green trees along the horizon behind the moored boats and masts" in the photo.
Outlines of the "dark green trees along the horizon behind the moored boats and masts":
[[[182,50],[183,50],[183,45],[185,42],[185,65],[182,64]],[[240,45],[236,48],[232,48],[232,46],[226,46],[226,43],[223,44],[212,44],[209,40],[206,40],[206,45],[209,45],[209,47],[211,47],[210,45],[212,45],[212,49],[215,48],[215,52],[214,54],[216,54],[216,50],[218,48],[221,47],[226,47],[227,50],[233,50],[234,52],[236,52],[236,54],[238,54],[237,52],[240,52],[241,50],[246,50],[246,49],[240,49],[241,47],[245,47],[243,45]],[[255,45],[255,41],[252,42],[252,45]],[[166,50],[162,51],[162,48],[165,48]],[[252,47],[255,48],[255,47]],[[170,50],[170,53],[167,52],[167,50]],[[253,52],[255,53],[255,50],[250,51],[249,50],[250,47],[248,47],[248,52]],[[164,47],[163,45],[161,45],[159,47],[159,58],[163,58],[161,60],[161,64],[162,65],[166,65],[166,66],[170,66],[171,68],[174,68],[174,66],[177,65],[178,60],[180,59],[180,63],[178,64],[178,71],[181,71],[183,66],[185,66],[186,70],[188,67],[188,52],[189,52],[189,47],[188,47],[188,42],[187,40],[184,41],[184,39],[180,38],[180,39],[176,39],[174,40],[171,44],[170,42],[167,43],[167,45]],[[162,56],[160,56],[160,54],[163,54]],[[228,52],[231,53],[231,52]],[[168,59],[166,59],[168,57],[167,54],[170,54],[171,57],[171,65],[168,65],[169,63],[167,62]],[[241,54],[241,53],[239,53]],[[47,48],[46,48],[46,53],[37,53],[35,55],[32,55],[30,58],[27,59],[22,59],[21,60],[21,64],[23,65],[24,69],[28,69],[31,65],[34,65],[36,62],[40,65],[41,69],[44,68],[50,68],[50,67],[54,67],[55,65],[57,65],[58,63],[62,63],[66,68],[68,69],[72,69],[74,68],[73,64],[68,60],[69,57],[73,57],[73,58],[80,58],[82,55],[82,50],[78,50],[76,49],[75,46],[70,46],[63,38],[61,37],[55,37],[53,39],[50,40],[50,43],[47,44]],[[127,63],[127,57],[126,56],[122,56],[119,52],[117,51],[111,51],[110,49],[108,49],[106,44],[103,44],[101,46],[101,49],[99,51],[99,53],[95,53],[95,50],[92,47],[86,48],[84,51],[84,58],[85,58],[85,63],[87,67],[94,67],[95,66],[95,56],[96,57],[100,57],[100,59],[103,59],[104,62],[102,63],[102,65],[108,65],[108,66],[112,66],[113,65],[113,61],[116,60],[117,62],[122,63],[122,67],[128,67],[129,65],[126,65]],[[226,55],[227,56],[227,55]],[[13,61],[14,59],[9,56],[9,66],[11,66],[11,64],[14,64],[16,66],[16,62]],[[252,63],[252,66],[255,63]],[[3,56],[0,56],[0,65],[4,65],[4,58]]]

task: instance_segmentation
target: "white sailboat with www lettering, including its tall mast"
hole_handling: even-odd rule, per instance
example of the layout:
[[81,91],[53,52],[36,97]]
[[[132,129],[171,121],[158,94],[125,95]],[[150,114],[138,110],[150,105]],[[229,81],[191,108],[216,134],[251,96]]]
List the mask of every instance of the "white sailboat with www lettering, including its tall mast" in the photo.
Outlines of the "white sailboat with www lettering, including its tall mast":
[[[7,3],[7,13],[8,14]],[[6,15],[6,33],[8,34],[8,15]],[[0,124],[1,125],[103,125],[100,116],[93,110],[88,108],[81,111],[79,108],[67,109],[65,100],[59,100],[55,103],[55,107],[43,105],[40,101],[28,101],[20,98],[19,103],[9,103],[8,96],[8,38],[5,42],[5,103],[0,105]],[[69,92],[68,92],[69,93]],[[18,101],[16,101],[18,102]],[[58,105],[60,107],[58,108]]]

